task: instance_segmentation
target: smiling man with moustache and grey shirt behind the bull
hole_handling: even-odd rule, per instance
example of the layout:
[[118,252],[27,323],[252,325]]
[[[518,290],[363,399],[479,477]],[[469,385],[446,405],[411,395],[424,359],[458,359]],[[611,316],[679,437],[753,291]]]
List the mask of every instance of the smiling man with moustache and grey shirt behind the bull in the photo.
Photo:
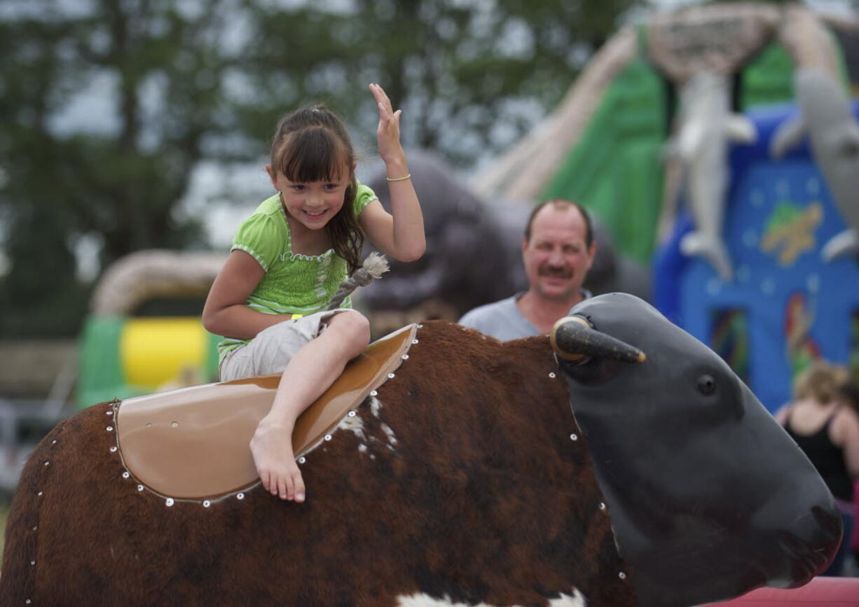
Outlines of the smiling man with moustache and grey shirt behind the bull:
[[562,199],[539,204],[522,239],[528,290],[474,308],[460,325],[501,340],[548,333],[557,319],[590,297],[582,282],[595,253],[590,217],[582,206]]

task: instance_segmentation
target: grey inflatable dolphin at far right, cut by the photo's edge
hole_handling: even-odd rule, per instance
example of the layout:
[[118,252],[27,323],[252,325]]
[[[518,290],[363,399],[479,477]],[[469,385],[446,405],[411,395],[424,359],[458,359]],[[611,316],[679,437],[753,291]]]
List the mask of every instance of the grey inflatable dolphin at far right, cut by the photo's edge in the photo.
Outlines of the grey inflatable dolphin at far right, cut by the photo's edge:
[[800,113],[778,126],[770,153],[781,158],[808,136],[814,160],[848,225],[825,244],[821,255],[832,261],[859,254],[859,124],[850,98],[844,87],[820,70],[796,70],[794,88]]

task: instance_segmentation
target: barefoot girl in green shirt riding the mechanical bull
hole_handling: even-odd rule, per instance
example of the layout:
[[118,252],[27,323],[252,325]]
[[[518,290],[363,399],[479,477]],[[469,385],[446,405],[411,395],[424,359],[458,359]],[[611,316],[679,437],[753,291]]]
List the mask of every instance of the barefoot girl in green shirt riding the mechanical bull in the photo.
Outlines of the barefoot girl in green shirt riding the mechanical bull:
[[[385,161],[392,214],[355,179],[355,155],[342,121],[323,106],[282,118],[265,170],[277,194],[238,229],[203,310],[218,344],[221,379],[280,373],[271,410],[251,440],[266,490],[304,501],[292,452],[295,419],[369,343],[369,323],[350,300],[326,304],[348,273],[361,267],[366,234],[400,261],[423,255],[423,215],[399,143],[401,110],[369,85],[379,106],[379,155]],[[285,367],[285,368],[284,368]]]

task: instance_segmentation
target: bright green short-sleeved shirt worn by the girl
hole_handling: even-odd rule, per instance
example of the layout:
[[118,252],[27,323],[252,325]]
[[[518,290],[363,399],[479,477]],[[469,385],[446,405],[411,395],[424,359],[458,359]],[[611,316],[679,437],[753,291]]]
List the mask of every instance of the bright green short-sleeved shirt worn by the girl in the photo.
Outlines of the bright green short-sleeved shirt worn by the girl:
[[[376,200],[368,186],[358,184],[353,202],[355,216]],[[280,195],[265,199],[239,227],[230,251],[239,249],[257,260],[265,270],[245,305],[266,314],[313,314],[324,310],[348,275],[346,260],[333,249],[321,255],[292,252],[292,236]],[[340,307],[352,307],[347,297]],[[249,339],[224,337],[218,343],[220,361]]]

